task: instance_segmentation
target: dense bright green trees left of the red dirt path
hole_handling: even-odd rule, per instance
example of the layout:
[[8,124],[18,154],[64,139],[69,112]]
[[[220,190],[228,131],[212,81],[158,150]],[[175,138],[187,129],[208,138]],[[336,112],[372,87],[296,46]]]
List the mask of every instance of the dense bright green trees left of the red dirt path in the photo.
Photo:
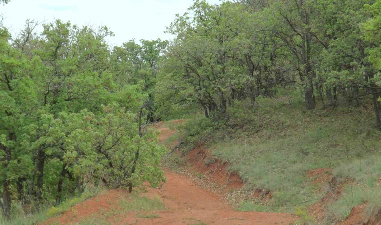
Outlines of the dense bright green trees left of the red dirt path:
[[86,184],[160,185],[165,149],[142,120],[152,113],[166,41],[142,41],[145,73],[131,76],[113,60],[107,27],[56,20],[35,34],[30,25],[12,43],[0,28],[0,214],[10,217],[15,199],[26,206],[76,199]]

